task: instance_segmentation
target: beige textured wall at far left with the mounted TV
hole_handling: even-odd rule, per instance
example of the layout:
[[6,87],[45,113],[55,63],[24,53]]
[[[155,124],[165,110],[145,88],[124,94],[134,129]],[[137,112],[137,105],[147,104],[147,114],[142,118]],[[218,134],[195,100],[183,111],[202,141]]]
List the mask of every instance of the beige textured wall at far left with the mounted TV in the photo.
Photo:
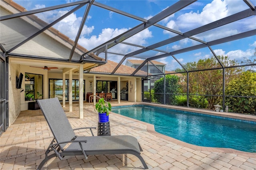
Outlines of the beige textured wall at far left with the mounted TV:
[[[12,64],[9,65],[9,126],[14,123],[18,115],[20,114],[20,91],[21,89],[16,88],[16,76],[20,75],[20,65]],[[23,75],[23,80],[25,75]],[[24,87],[23,87],[24,88]]]

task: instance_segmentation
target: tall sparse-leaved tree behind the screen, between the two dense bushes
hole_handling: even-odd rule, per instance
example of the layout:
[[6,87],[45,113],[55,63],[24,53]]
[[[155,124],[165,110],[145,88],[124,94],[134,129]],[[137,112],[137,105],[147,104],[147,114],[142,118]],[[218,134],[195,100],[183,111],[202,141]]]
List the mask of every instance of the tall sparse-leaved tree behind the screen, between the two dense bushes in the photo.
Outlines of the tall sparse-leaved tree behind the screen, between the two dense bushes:
[[[238,63],[235,60],[230,60],[228,56],[218,56],[220,62],[226,66],[235,66]],[[213,109],[214,105],[221,101],[223,85],[223,69],[214,69],[221,67],[218,60],[212,56],[207,59],[200,59],[198,62],[190,62],[184,65],[189,71],[188,90],[190,94],[197,95],[211,95],[206,96],[208,100],[208,109]],[[212,70],[203,70],[212,68]],[[240,67],[225,69],[225,83],[228,84],[230,80],[237,77],[243,71]],[[183,88],[184,89],[184,88]]]

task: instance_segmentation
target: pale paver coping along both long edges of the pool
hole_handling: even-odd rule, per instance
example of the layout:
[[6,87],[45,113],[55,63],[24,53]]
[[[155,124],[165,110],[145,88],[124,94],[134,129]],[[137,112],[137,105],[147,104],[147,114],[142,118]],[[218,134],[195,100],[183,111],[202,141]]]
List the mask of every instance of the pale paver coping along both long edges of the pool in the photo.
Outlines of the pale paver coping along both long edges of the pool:
[[[158,104],[155,104],[155,103],[153,105],[152,104],[145,104],[145,103],[134,103],[134,104],[124,104],[124,105],[116,105],[116,106],[118,107],[118,106],[132,106],[132,105],[149,105],[149,106],[164,107],[164,108],[168,108],[168,109],[176,109],[176,108],[178,108],[178,110],[189,111],[189,112],[193,112],[192,110],[194,110],[194,112],[200,112],[202,114],[215,115],[215,116],[220,116],[220,117],[228,116],[228,118],[233,118],[233,119],[240,119],[240,116],[242,115],[242,114],[239,114],[239,113],[238,113],[239,116],[237,116],[237,115],[230,115],[230,114],[226,115],[226,114],[223,114],[224,112],[217,113],[217,112],[214,112],[214,111],[198,111],[199,109],[180,108],[180,107],[175,107],[175,106],[167,106],[167,107],[165,107],[165,105],[162,106],[162,105],[158,105]],[[114,106],[112,106],[112,107],[114,107]],[[189,144],[189,143],[183,142],[181,140],[178,140],[178,139],[172,138],[170,136],[166,136],[164,134],[156,132],[155,128],[154,128],[154,125],[152,125],[150,123],[139,121],[137,119],[126,117],[124,115],[120,115],[120,114],[117,114],[117,113],[114,113],[114,112],[112,112],[112,113],[115,114],[115,115],[118,115],[120,117],[124,117],[125,119],[129,119],[129,120],[132,120],[134,122],[138,122],[138,123],[141,123],[143,125],[146,125],[147,131],[150,134],[154,134],[154,135],[156,135],[156,136],[158,136],[160,138],[163,138],[163,139],[168,140],[170,142],[174,142],[175,144],[178,144],[178,145],[190,148],[190,149],[199,150],[199,151],[206,151],[206,152],[221,152],[221,153],[239,154],[239,155],[242,155],[242,156],[256,158],[256,153],[252,153],[252,152],[245,152],[245,151],[235,150],[235,149],[231,149],[231,148],[216,148],[216,147],[206,147],[206,146],[197,146],[197,145],[194,145],[194,144]],[[220,113],[222,115],[220,115]],[[233,114],[236,114],[236,113],[233,113]],[[250,118],[249,119],[248,118],[241,119],[241,120],[245,120],[245,121],[252,121],[252,120],[254,120],[256,122],[256,118],[252,119],[252,120]]]

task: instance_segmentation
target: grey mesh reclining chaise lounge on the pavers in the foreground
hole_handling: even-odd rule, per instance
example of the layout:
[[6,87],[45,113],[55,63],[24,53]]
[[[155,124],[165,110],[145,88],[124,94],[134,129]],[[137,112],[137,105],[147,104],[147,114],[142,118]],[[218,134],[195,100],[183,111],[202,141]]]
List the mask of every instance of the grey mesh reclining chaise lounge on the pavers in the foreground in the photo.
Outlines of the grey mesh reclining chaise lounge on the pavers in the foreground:
[[[104,154],[133,154],[140,159],[144,168],[148,169],[140,155],[142,148],[134,136],[76,136],[58,98],[40,99],[37,102],[54,136],[45,152],[44,160],[37,168],[38,170],[54,157],[62,160],[64,156],[84,155],[87,159],[88,155]],[[93,127],[87,128],[92,132]]]

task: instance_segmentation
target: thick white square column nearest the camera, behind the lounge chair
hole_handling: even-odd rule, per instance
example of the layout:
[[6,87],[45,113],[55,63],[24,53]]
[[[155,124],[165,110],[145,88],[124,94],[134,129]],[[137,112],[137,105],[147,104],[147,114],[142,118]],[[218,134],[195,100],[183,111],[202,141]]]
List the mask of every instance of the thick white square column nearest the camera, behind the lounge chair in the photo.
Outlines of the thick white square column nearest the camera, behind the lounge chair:
[[79,118],[84,118],[84,94],[83,94],[83,82],[84,73],[83,65],[79,65]]

